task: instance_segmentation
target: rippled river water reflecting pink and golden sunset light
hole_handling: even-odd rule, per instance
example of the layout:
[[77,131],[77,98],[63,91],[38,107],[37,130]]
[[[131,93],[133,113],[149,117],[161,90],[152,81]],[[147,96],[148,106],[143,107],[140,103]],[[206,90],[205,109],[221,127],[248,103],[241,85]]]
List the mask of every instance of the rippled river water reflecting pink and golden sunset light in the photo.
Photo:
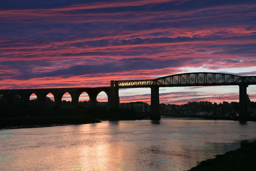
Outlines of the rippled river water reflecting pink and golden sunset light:
[[256,138],[255,122],[162,119],[0,130],[1,170],[188,170]]

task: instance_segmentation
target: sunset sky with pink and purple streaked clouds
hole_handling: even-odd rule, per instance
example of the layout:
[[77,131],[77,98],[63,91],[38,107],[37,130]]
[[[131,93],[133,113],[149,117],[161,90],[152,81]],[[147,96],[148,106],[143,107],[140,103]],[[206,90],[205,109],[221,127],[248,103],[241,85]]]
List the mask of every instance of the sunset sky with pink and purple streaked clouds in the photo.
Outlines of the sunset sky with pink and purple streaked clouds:
[[[2,0],[0,89],[105,87],[188,72],[255,76],[255,9],[255,0]],[[150,93],[119,89],[120,102],[150,103]],[[256,101],[255,85],[247,93]],[[238,102],[239,87],[160,88],[159,96],[166,104]]]

